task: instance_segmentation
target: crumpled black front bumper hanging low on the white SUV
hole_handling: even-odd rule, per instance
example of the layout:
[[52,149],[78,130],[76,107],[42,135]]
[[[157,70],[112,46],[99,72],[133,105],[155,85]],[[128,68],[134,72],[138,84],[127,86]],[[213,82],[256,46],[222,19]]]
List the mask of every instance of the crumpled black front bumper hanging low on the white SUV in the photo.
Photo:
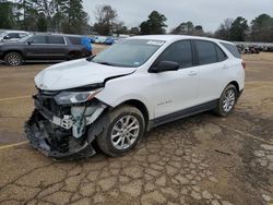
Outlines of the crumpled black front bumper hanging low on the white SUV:
[[83,144],[73,142],[73,147],[70,147],[66,152],[58,150],[50,143],[48,133],[39,118],[43,118],[43,116],[35,109],[29,120],[25,123],[25,132],[31,145],[44,155],[57,160],[72,160],[88,158],[96,154],[88,141]]

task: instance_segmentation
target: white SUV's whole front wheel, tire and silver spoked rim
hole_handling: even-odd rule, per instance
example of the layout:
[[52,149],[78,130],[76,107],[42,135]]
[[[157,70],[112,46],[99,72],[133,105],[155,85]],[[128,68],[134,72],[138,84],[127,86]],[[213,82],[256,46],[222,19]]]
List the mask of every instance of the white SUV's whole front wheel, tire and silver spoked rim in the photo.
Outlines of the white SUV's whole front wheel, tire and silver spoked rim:
[[145,121],[141,111],[132,106],[121,106],[110,111],[109,116],[109,124],[96,141],[105,154],[122,156],[140,142],[145,131]]

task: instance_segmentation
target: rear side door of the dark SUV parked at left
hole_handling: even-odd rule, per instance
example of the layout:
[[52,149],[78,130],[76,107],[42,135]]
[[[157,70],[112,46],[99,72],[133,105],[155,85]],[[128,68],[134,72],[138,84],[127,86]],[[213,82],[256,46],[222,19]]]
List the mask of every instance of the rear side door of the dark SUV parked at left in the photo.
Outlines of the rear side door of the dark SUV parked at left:
[[48,58],[64,60],[67,57],[67,43],[63,36],[47,36]]

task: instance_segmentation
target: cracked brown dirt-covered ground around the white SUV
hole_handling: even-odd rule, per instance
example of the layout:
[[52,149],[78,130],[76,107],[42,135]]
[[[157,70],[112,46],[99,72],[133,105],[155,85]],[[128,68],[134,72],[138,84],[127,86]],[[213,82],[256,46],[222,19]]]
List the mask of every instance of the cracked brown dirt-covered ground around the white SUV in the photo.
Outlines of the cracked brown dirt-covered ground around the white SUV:
[[244,59],[233,116],[178,120],[124,157],[70,162],[25,143],[33,77],[48,64],[0,65],[0,204],[273,204],[273,53]]

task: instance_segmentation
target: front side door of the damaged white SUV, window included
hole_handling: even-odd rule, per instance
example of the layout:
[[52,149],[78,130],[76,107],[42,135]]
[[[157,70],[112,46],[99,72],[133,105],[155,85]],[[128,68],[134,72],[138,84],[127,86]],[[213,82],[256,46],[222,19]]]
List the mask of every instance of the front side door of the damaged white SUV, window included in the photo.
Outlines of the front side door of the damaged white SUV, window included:
[[170,45],[161,55],[159,61],[175,61],[178,71],[151,73],[150,98],[154,101],[154,117],[176,113],[197,105],[198,67],[193,67],[190,40]]

